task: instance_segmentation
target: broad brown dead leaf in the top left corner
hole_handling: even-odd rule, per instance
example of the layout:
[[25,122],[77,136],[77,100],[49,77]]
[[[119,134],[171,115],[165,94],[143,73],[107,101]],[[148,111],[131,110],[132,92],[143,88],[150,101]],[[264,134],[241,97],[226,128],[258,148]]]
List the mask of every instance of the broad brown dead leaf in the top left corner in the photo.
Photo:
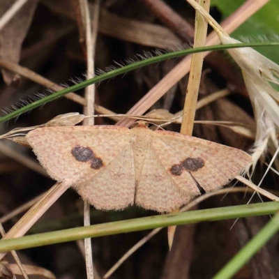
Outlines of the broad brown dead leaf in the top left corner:
[[[13,5],[10,0],[1,0],[0,15],[4,15],[6,11]],[[22,42],[27,35],[33,14],[36,9],[38,0],[29,0],[15,14],[13,18],[0,31],[0,56],[11,62],[18,63],[20,61],[20,52]],[[18,78],[9,70],[1,70],[3,80],[10,85],[15,79],[15,84],[18,84]]]

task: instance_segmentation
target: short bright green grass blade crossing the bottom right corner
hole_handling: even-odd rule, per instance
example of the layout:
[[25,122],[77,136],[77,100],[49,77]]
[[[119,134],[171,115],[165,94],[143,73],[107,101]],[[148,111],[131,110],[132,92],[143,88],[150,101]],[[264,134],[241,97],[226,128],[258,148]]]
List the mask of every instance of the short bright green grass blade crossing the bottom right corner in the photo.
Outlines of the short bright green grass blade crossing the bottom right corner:
[[[224,267],[213,279],[229,279],[255,255],[255,253],[264,246],[279,230],[279,212],[262,228],[258,234],[253,237]],[[266,278],[269,276],[266,274]]]

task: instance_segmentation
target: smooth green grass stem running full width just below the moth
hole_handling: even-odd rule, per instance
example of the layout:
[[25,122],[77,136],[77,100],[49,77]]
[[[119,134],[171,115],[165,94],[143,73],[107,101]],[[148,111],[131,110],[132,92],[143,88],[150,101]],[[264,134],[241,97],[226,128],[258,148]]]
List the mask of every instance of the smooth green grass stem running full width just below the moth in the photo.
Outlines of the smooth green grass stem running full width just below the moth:
[[157,215],[112,223],[91,225],[88,227],[76,227],[73,229],[63,229],[56,232],[46,232],[43,234],[23,236],[17,239],[1,240],[0,252],[38,247],[66,241],[75,241],[77,239],[85,239],[88,237],[136,232],[142,229],[155,229],[156,227],[169,227],[172,225],[184,225],[203,221],[227,220],[229,218],[242,218],[248,216],[262,216],[276,213],[278,210],[279,202],[265,202],[259,204],[245,204],[240,206],[220,207],[217,209],[204,209],[183,213]]

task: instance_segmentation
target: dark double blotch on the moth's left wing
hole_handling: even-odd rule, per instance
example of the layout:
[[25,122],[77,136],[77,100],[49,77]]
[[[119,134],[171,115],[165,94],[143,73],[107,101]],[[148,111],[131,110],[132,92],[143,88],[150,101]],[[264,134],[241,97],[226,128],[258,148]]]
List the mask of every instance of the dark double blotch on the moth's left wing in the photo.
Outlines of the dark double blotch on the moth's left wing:
[[96,157],[89,147],[77,145],[72,149],[72,155],[79,162],[90,162],[92,169],[103,167],[103,160]]

